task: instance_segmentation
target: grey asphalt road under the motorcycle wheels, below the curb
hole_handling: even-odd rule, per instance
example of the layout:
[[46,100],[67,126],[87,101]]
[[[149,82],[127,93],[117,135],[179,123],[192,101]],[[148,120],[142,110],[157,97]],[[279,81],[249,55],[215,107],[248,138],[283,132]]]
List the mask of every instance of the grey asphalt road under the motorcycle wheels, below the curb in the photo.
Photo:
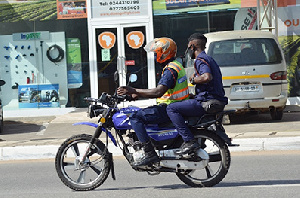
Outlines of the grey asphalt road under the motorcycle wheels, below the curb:
[[115,159],[117,180],[109,176],[94,191],[74,192],[57,177],[53,160],[0,162],[0,197],[298,197],[300,151],[244,152],[232,155],[226,178],[212,188],[191,188],[175,174],[149,176]]

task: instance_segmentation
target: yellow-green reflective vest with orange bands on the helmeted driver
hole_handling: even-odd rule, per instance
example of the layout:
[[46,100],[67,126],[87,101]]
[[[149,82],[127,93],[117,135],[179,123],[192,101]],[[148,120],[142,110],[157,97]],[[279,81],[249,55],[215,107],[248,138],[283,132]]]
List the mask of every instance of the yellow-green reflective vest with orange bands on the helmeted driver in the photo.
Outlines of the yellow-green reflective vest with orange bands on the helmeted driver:
[[175,60],[173,62],[170,62],[167,66],[165,66],[162,73],[168,68],[174,69],[178,74],[178,77],[176,79],[176,85],[173,89],[168,89],[167,92],[161,98],[157,98],[156,101],[158,104],[170,104],[189,98],[188,81],[183,66]]

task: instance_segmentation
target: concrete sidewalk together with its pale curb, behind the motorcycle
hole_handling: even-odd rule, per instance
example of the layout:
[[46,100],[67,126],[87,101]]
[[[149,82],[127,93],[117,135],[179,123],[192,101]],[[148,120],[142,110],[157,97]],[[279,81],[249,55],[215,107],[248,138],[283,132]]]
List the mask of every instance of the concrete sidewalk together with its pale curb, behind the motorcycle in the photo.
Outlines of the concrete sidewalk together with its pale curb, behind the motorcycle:
[[[91,121],[86,108],[57,108],[4,111],[4,133],[0,134],[0,160],[54,158],[59,145],[76,134],[93,134],[89,126],[73,123]],[[234,116],[224,126],[227,134],[240,147],[231,152],[260,150],[300,150],[300,112],[287,108],[281,121],[269,114]],[[114,155],[121,150],[109,145]]]

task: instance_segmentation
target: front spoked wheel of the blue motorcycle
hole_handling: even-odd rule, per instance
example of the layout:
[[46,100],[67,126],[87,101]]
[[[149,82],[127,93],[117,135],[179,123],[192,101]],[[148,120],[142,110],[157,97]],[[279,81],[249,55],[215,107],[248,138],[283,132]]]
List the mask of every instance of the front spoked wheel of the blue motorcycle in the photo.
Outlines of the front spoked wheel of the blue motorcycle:
[[58,149],[55,158],[56,172],[61,181],[76,191],[93,190],[107,178],[111,160],[105,145],[97,140],[91,146],[87,158],[82,161],[92,136],[76,135],[67,139]]

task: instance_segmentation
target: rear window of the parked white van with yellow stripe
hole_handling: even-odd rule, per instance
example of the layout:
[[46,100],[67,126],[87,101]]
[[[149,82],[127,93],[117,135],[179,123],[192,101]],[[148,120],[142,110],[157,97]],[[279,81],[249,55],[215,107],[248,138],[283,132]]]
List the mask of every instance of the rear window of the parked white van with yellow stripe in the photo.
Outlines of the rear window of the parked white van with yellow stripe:
[[253,38],[212,42],[208,55],[220,67],[278,64],[282,56],[274,39]]

